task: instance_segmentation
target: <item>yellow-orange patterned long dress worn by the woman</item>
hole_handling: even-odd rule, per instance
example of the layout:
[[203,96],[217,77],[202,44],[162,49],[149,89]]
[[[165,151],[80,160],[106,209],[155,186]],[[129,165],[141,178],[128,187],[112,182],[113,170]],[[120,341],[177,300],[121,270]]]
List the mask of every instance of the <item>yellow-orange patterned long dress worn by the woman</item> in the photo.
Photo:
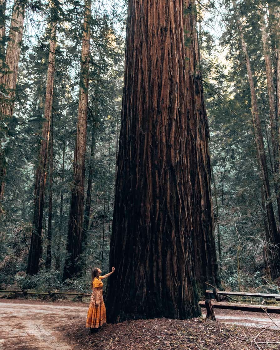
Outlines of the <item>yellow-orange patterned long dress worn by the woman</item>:
[[90,298],[90,306],[89,311],[87,311],[86,318],[86,328],[99,328],[104,323],[106,323],[106,308],[105,303],[103,301],[103,282],[101,281],[103,276],[99,276],[99,278],[94,278],[92,281],[92,289],[97,289],[97,298],[98,305],[96,305],[96,300],[94,293],[92,291],[92,295]]

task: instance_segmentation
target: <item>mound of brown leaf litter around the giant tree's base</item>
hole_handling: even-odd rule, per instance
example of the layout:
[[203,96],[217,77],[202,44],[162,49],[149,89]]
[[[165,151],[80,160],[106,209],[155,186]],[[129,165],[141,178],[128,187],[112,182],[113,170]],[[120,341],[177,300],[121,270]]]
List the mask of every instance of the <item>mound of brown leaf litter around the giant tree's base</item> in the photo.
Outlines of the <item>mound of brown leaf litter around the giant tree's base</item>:
[[92,350],[264,350],[280,349],[280,332],[192,320],[132,320],[106,324],[90,334],[74,322],[60,328],[80,348]]

